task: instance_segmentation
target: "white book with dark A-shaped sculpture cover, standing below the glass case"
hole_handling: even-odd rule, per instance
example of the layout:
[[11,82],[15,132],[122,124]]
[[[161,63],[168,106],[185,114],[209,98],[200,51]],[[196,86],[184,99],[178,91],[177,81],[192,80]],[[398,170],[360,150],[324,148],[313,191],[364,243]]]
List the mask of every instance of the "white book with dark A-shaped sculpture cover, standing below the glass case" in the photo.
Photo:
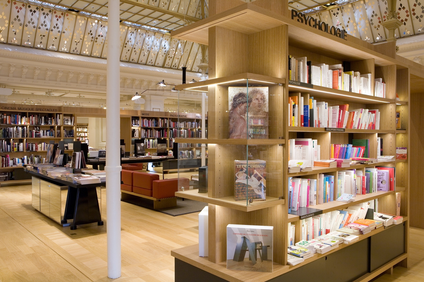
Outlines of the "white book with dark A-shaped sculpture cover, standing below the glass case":
[[227,225],[227,269],[272,272],[273,226]]

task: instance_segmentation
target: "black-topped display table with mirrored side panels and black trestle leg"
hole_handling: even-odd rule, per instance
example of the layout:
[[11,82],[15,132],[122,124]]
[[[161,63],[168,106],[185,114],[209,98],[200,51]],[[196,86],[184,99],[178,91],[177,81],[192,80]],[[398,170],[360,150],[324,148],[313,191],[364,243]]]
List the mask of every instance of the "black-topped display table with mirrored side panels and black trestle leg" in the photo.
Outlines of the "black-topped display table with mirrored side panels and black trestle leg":
[[[96,188],[106,182],[81,185],[26,170],[33,176],[32,206],[36,210],[62,226],[70,225],[71,230],[81,224],[103,225]],[[68,223],[69,219],[73,222]]]

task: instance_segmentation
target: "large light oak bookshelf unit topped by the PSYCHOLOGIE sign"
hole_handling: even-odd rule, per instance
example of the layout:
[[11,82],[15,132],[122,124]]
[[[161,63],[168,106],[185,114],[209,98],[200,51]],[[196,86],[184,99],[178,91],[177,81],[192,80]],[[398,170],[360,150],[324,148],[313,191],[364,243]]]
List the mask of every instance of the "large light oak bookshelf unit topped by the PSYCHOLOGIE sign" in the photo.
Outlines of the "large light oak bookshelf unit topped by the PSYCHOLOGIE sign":
[[[171,33],[174,38],[209,45],[209,80],[175,87],[176,90],[208,92],[209,138],[203,141],[209,146],[208,192],[201,194],[180,187],[176,196],[209,203],[209,257],[198,256],[198,245],[172,251],[171,254],[176,258],[176,282],[193,281],[187,276],[188,273],[195,274],[196,279],[202,277],[209,279],[208,281],[317,281],[319,277],[318,281],[333,281],[337,278],[340,281],[366,282],[395,265],[408,267],[408,229],[411,217],[409,155],[408,160],[350,168],[314,168],[310,172],[291,174],[288,173],[288,139],[317,139],[321,145],[321,159],[330,158],[330,144],[348,144],[351,139],[369,139],[370,157],[373,158],[377,158],[377,137],[383,138],[383,155],[396,155],[396,147],[407,147],[408,152],[411,152],[409,123],[414,113],[411,115],[408,104],[410,93],[422,93],[420,86],[424,85],[424,68],[399,56],[389,56],[391,51],[387,50],[394,48],[391,43],[386,43],[387,50],[379,46],[379,50],[384,52],[381,54],[374,45],[353,36],[348,35],[347,40],[343,40],[297,22],[290,18],[287,3],[283,1],[256,0],[242,3],[210,0],[209,12],[208,18]],[[371,81],[382,78],[386,83],[386,97],[315,85],[295,85],[288,79],[289,55],[295,58],[307,56],[312,65],[349,62],[350,70],[361,74],[371,73]],[[419,83],[410,84],[413,78]],[[372,93],[373,84],[371,83]],[[247,85],[269,87],[269,139],[249,139],[247,136],[244,139],[228,139],[228,86]],[[396,93],[400,101],[396,100]],[[324,128],[288,126],[286,105],[288,97],[293,95],[314,97],[318,102],[325,101],[329,105],[347,103],[349,109],[378,109],[381,115],[380,129],[326,132]],[[401,111],[402,130],[396,130],[396,111]],[[418,122],[418,116],[416,120]],[[187,143],[187,139],[177,138],[175,141]],[[202,141],[197,139],[190,142]],[[255,149],[262,150],[262,156],[255,155]],[[254,158],[260,157],[266,161],[266,201],[251,204],[235,202],[232,189],[233,161],[247,159],[250,152],[253,152],[251,155]],[[287,213],[288,177],[317,178],[319,173],[337,175],[339,170],[365,171],[366,168],[375,166],[396,167],[396,191],[357,195],[355,202],[349,204],[331,201],[310,207],[322,209],[326,213],[379,199],[379,212],[394,214],[395,196],[400,193],[403,223],[360,235],[360,240],[353,244],[339,245],[324,255],[314,254],[299,265],[287,265],[288,223],[296,224],[294,241],[298,242],[301,238],[299,216]],[[413,179],[418,177],[419,172],[416,173],[417,176]],[[227,224],[274,227],[272,273],[226,269]],[[399,241],[394,238],[399,238]],[[379,242],[385,246],[381,246]],[[393,252],[387,249],[392,249]],[[382,258],[378,257],[379,253]],[[363,264],[350,264],[350,258],[363,259]],[[343,263],[340,264],[340,261]],[[334,263],[337,263],[337,268],[334,268]],[[315,271],[317,268],[328,273],[321,277]],[[328,268],[332,271],[328,271]],[[299,280],[303,276],[304,279]]]

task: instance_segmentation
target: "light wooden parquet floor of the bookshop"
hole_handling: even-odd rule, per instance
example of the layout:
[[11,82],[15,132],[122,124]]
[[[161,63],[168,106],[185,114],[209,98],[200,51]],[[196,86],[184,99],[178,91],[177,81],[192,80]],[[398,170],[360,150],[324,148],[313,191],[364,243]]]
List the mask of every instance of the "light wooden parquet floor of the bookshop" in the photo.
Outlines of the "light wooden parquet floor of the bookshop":
[[[0,282],[174,281],[170,251],[198,242],[198,213],[174,217],[121,202],[121,214],[122,277],[109,279],[104,202],[105,225],[70,230],[31,207],[31,185],[1,187]],[[424,230],[411,228],[410,240],[410,268],[397,267],[375,281],[424,281]]]

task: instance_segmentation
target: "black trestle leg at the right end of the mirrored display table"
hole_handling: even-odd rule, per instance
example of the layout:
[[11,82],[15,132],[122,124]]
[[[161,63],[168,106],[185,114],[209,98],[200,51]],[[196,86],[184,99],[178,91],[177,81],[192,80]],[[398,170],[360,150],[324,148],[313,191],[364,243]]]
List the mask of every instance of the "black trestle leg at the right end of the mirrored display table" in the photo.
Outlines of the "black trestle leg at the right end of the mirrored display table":
[[71,225],[71,230],[77,229],[77,225],[94,222],[97,222],[98,225],[103,225],[97,199],[97,190],[95,187],[78,188],[74,222]]

